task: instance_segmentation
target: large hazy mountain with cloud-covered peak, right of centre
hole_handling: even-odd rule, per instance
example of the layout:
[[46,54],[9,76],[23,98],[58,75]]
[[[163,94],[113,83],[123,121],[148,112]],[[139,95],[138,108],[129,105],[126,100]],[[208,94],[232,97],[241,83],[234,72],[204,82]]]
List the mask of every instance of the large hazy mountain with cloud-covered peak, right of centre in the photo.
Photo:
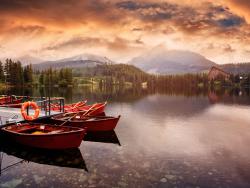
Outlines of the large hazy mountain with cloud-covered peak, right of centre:
[[160,45],[128,62],[148,73],[184,74],[208,71],[217,64],[204,56],[183,50],[167,50]]

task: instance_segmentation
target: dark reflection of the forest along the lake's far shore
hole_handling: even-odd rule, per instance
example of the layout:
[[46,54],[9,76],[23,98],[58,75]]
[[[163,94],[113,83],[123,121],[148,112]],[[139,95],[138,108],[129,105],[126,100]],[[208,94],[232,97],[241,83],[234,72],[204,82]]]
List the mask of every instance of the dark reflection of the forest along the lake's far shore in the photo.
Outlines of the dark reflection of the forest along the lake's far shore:
[[[147,96],[153,96],[155,94],[163,96],[173,96],[173,100],[176,97],[182,97],[183,101],[186,98],[198,100],[202,98],[208,98],[210,104],[215,103],[227,103],[227,104],[241,104],[250,105],[250,88],[220,88],[217,90],[202,89],[202,88],[190,88],[187,90],[162,88],[162,89],[145,89],[145,88],[99,88],[99,87],[70,87],[70,88],[23,88],[13,87],[8,90],[0,90],[0,94],[8,95],[30,95],[30,96],[62,96],[66,99],[66,103],[72,103],[79,100],[88,99],[89,103],[97,101],[109,101],[109,102],[122,102],[122,103],[134,103]],[[122,97],[121,97],[122,96]],[[153,99],[152,99],[153,100]],[[183,101],[173,101],[172,103],[179,102],[176,106],[181,106]],[[193,103],[195,104],[195,103]],[[186,111],[186,110],[185,110]]]

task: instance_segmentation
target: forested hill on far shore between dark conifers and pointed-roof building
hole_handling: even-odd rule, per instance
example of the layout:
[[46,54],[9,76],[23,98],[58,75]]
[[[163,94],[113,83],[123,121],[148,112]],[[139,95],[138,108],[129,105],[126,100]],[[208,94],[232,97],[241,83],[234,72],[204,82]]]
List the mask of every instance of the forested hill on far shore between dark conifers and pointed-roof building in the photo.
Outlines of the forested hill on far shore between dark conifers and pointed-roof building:
[[106,64],[96,67],[74,69],[74,76],[96,78],[99,77],[100,86],[111,86],[114,84],[133,85],[146,84],[147,87],[206,87],[208,85],[207,74],[184,74],[184,75],[152,75],[143,72],[133,65]]

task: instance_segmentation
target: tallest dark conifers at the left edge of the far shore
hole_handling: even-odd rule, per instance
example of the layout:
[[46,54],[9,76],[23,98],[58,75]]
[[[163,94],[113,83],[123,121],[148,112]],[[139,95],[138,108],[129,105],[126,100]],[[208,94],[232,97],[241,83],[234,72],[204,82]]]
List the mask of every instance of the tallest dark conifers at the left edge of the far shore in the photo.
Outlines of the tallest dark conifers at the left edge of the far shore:
[[22,67],[20,61],[6,59],[4,63],[0,61],[0,82],[8,85],[28,85],[33,83],[32,66]]

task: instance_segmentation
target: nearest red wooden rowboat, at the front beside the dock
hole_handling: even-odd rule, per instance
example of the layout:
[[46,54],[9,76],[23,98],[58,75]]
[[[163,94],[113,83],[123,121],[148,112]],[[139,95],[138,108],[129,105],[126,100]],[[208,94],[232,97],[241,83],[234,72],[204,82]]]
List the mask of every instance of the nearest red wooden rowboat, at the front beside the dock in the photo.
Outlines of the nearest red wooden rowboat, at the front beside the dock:
[[44,149],[67,149],[80,146],[86,129],[42,123],[10,124],[1,129],[6,138],[22,145]]

